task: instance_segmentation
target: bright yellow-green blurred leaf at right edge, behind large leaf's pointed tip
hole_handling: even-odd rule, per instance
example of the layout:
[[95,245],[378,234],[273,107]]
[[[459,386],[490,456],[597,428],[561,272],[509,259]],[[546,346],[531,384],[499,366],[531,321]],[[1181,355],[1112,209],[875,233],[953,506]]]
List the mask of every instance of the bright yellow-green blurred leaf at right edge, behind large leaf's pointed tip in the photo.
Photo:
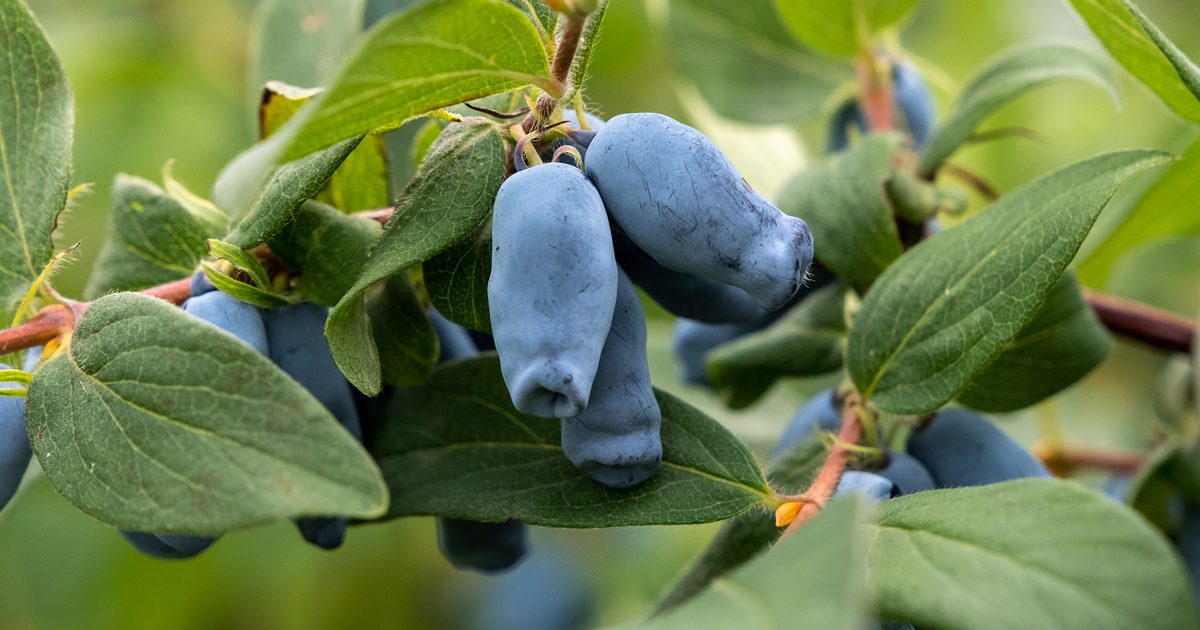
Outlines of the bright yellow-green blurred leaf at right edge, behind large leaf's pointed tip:
[[1195,142],[1156,181],[1120,227],[1079,265],[1079,276],[1103,287],[1122,256],[1168,236],[1200,235],[1200,212],[1182,212],[1200,198],[1200,142]]

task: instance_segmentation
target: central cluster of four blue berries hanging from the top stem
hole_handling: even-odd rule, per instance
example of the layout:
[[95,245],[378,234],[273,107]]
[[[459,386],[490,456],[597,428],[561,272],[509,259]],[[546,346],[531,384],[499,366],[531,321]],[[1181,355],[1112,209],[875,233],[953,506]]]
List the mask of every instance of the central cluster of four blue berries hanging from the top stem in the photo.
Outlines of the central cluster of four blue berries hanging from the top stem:
[[523,168],[515,151],[493,211],[488,305],[514,406],[562,419],[566,456],[623,488],[662,457],[635,283],[678,314],[744,322],[800,290],[812,235],[686,125],[623,114],[594,127],[576,137],[583,170]]

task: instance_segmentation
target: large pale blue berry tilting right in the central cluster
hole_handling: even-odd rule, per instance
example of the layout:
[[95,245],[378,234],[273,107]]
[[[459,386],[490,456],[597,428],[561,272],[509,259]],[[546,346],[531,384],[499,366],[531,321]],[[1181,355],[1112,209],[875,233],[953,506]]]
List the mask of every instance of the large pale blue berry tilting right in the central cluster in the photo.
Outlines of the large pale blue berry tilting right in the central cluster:
[[733,284],[774,311],[800,289],[812,233],[738,175],[704,134],[661,114],[622,114],[584,160],[604,205],[662,266]]

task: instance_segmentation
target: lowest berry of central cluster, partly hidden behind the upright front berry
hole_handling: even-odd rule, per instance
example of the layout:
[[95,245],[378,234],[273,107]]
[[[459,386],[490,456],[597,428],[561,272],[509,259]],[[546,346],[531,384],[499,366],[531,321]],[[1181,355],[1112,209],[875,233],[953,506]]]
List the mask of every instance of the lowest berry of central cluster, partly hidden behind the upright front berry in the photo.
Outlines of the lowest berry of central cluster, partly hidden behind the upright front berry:
[[562,425],[566,458],[605,486],[636,486],[662,463],[662,414],[646,360],[646,313],[623,272],[588,407]]

